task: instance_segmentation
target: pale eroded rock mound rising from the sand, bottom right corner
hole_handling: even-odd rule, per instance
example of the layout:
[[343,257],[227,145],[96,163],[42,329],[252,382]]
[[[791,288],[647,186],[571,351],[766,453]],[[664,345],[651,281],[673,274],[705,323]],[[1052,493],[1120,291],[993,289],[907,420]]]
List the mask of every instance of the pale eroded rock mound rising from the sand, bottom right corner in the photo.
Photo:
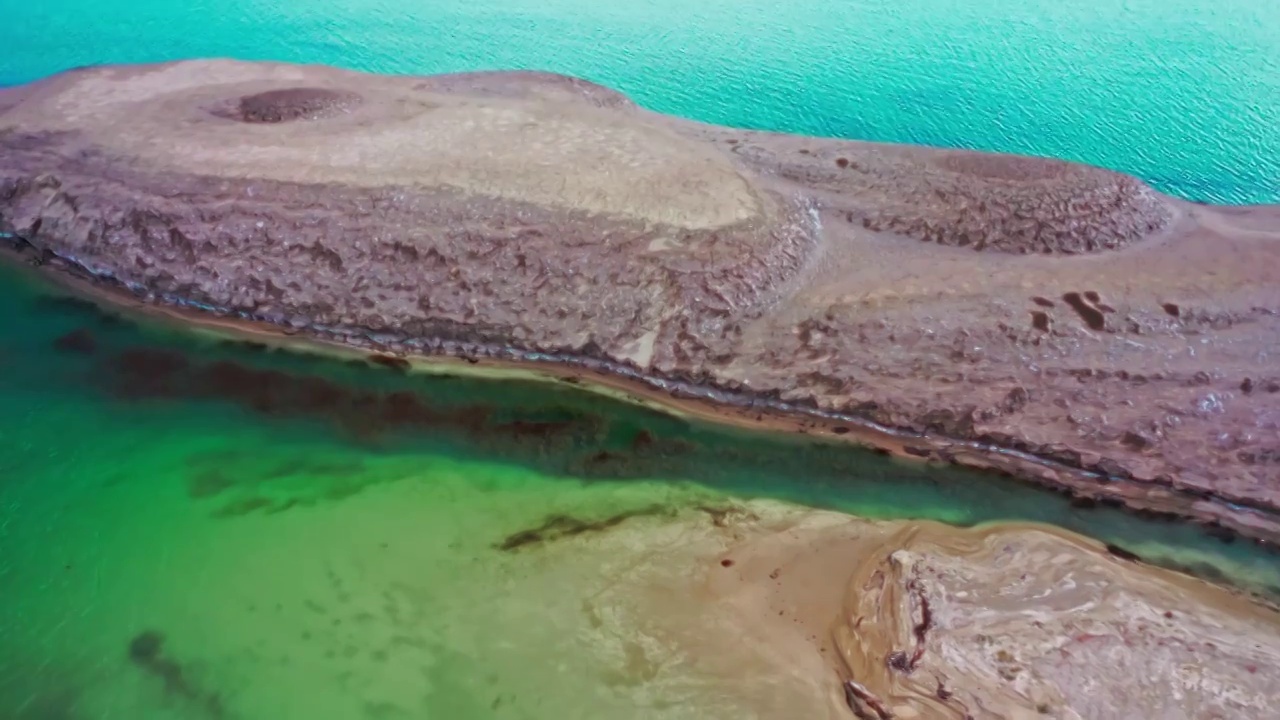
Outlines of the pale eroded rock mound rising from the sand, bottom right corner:
[[855,574],[836,635],[869,715],[1267,715],[1274,612],[1199,591],[1042,529],[913,527]]

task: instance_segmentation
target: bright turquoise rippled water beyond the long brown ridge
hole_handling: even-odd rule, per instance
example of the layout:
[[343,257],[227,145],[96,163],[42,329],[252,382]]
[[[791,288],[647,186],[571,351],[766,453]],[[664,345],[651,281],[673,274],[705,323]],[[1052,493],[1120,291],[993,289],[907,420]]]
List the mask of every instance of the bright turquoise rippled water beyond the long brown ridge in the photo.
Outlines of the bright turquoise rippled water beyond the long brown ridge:
[[1004,150],[1280,200],[1268,0],[3,0],[0,83],[236,56],[538,68],[713,123]]

